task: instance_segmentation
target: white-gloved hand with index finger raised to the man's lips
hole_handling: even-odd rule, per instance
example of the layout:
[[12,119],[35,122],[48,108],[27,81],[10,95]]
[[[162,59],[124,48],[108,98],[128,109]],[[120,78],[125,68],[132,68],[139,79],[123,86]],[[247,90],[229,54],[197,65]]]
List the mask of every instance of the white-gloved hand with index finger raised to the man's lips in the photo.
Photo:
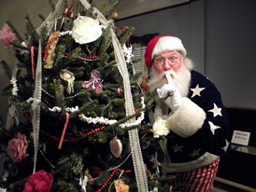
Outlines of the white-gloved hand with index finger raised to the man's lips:
[[179,90],[175,87],[173,79],[169,73],[165,73],[168,84],[164,84],[161,89],[157,89],[158,95],[161,99],[164,99],[164,103],[167,104],[168,107],[174,113],[180,104],[182,103],[181,94]]

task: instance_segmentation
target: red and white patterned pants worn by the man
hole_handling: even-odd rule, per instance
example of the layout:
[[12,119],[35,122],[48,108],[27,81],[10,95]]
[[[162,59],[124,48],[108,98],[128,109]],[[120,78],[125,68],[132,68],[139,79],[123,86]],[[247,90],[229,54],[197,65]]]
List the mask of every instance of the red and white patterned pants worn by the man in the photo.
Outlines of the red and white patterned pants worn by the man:
[[189,172],[178,173],[173,192],[212,192],[220,158],[212,164]]

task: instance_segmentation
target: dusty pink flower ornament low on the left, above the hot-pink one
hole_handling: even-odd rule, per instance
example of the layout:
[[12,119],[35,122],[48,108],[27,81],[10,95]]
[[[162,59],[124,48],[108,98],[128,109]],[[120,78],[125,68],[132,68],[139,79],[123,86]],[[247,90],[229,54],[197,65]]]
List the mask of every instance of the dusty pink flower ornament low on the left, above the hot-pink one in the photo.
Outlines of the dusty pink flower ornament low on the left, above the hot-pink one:
[[28,157],[28,154],[26,154],[27,146],[26,135],[19,132],[16,138],[8,142],[7,154],[15,162],[21,162],[23,158]]

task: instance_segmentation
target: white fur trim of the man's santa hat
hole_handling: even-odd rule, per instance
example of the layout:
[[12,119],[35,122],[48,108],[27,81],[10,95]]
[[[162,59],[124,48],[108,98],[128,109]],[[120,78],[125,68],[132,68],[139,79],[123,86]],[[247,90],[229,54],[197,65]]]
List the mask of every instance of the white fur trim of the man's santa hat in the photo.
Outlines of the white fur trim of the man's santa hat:
[[187,50],[184,48],[181,40],[176,36],[163,36],[161,37],[155,45],[153,52],[151,54],[151,60],[153,60],[155,55],[158,55],[164,51],[168,50],[179,50],[184,56],[187,55]]

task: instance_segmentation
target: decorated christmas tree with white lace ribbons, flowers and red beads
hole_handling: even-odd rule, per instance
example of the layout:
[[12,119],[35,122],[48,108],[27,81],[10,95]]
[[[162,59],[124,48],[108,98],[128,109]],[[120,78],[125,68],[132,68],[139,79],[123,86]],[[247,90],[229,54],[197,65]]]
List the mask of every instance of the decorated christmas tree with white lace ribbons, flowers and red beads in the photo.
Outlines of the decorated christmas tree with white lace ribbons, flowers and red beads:
[[3,90],[9,118],[0,132],[3,191],[149,191],[161,185],[148,150],[157,142],[145,121],[150,98],[131,62],[134,28],[115,26],[117,4],[99,11],[92,2],[50,1],[52,12],[40,16],[38,28],[25,16],[25,38],[9,21],[3,27],[1,41],[18,61],[13,70],[1,62],[10,79]]

